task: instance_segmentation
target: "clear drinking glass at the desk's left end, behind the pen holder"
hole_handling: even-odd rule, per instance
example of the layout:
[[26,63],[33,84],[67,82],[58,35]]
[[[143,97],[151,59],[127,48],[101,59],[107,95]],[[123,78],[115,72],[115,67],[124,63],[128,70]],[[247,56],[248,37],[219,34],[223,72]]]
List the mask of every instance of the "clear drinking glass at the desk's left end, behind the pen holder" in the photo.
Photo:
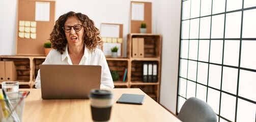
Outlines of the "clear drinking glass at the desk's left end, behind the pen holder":
[[11,102],[16,102],[19,93],[19,82],[18,81],[4,81],[2,82],[2,89],[5,90],[6,95]]

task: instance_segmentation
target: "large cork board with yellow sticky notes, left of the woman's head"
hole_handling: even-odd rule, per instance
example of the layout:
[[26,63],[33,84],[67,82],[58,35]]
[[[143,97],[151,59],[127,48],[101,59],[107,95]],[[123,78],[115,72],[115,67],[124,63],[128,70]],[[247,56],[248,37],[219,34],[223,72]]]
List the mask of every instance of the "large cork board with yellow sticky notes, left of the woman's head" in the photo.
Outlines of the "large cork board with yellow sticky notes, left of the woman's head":
[[55,1],[18,0],[16,55],[44,56],[54,26]]

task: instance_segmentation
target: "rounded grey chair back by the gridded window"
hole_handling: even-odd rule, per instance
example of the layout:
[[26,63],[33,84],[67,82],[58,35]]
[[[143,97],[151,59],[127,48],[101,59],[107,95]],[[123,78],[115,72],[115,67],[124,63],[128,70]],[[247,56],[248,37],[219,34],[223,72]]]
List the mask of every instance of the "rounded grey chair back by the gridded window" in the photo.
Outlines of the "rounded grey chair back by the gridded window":
[[216,122],[216,113],[204,101],[198,98],[189,98],[181,107],[178,118],[183,122]]

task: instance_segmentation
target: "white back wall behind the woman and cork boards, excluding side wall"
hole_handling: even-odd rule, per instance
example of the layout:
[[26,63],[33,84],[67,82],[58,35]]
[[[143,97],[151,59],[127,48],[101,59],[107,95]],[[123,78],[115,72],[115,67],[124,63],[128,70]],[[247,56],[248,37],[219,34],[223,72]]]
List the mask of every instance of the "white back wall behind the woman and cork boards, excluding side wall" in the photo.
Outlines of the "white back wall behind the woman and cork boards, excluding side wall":
[[[16,54],[17,1],[18,0],[0,1],[0,11],[3,13],[0,20],[0,27],[3,28],[0,37],[4,37],[0,41],[0,55]],[[55,20],[64,13],[74,11],[88,15],[99,29],[101,23],[123,24],[123,38],[126,42],[127,34],[129,34],[130,31],[130,2],[131,0],[56,0]],[[154,6],[154,0],[145,0],[143,2],[152,2]],[[155,13],[156,10],[153,8],[152,23],[155,23]],[[155,24],[152,24],[152,33],[155,33]],[[126,52],[126,48],[124,52]]]

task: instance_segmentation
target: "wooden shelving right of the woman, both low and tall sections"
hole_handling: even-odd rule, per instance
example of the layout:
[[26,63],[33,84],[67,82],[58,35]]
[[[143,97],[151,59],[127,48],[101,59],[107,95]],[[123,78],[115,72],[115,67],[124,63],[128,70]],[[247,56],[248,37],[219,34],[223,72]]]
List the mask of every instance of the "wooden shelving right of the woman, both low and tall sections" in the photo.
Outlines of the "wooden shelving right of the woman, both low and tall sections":
[[[143,38],[144,57],[133,56],[133,38]],[[154,34],[129,34],[127,37],[127,58],[107,58],[110,71],[118,71],[120,79],[114,81],[115,87],[140,88],[147,95],[159,102],[160,70],[161,70],[161,36]],[[157,64],[156,82],[143,82],[143,64]],[[122,81],[123,72],[127,68],[127,78]]]

